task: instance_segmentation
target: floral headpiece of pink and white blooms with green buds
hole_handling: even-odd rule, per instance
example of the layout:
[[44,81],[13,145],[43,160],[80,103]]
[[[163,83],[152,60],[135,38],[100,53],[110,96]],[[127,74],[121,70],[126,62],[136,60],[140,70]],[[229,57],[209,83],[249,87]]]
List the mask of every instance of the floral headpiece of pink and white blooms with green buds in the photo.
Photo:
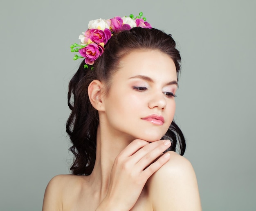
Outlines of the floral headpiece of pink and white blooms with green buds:
[[[71,52],[79,52],[81,56],[75,54],[73,60],[85,58],[84,68],[88,65],[94,64],[94,61],[99,58],[104,52],[104,45],[111,38],[113,33],[119,31],[130,30],[134,27],[151,29],[151,25],[146,22],[146,18],[141,18],[143,13],[140,12],[139,16],[130,14],[130,17],[124,16],[123,18],[117,16],[115,18],[103,20],[91,20],[88,24],[88,30],[79,36],[80,44],[72,44],[70,46]],[[93,67],[91,67],[93,69]]]

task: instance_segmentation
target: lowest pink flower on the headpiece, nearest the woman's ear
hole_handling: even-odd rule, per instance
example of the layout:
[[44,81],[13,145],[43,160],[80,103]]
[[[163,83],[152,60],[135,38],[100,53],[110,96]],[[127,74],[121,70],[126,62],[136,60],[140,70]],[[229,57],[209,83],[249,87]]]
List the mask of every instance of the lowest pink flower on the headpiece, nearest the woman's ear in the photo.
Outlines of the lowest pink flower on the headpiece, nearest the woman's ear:
[[101,44],[96,43],[90,43],[86,47],[79,50],[79,53],[81,56],[85,58],[86,64],[94,64],[94,61],[99,58],[99,56],[102,55],[104,52],[104,48],[101,46]]

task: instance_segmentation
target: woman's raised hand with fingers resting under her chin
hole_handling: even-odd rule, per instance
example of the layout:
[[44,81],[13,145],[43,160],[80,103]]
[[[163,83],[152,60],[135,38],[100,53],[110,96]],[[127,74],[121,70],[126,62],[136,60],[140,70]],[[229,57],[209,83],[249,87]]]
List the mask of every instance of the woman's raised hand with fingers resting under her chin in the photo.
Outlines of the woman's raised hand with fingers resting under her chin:
[[148,178],[170,158],[163,152],[170,147],[169,140],[132,141],[115,159],[106,198],[96,211],[128,211],[137,202]]

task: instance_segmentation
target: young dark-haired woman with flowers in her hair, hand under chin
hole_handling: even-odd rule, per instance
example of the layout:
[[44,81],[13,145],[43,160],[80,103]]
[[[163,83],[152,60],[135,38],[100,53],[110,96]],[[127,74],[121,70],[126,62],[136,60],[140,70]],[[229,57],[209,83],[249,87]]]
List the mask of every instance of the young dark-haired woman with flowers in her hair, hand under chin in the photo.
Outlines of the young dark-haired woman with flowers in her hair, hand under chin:
[[43,211],[201,210],[173,122],[180,53],[141,16],[91,21],[72,45],[84,58],[68,93],[73,174],[49,182]]

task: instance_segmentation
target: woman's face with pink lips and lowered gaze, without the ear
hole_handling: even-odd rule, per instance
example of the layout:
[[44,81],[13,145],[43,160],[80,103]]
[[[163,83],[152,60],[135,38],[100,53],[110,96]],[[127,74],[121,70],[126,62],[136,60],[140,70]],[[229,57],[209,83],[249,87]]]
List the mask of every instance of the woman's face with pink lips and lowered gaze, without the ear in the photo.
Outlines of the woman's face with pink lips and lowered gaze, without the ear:
[[160,51],[136,50],[122,58],[119,67],[103,98],[101,123],[114,137],[160,140],[175,113],[177,73],[173,60]]

